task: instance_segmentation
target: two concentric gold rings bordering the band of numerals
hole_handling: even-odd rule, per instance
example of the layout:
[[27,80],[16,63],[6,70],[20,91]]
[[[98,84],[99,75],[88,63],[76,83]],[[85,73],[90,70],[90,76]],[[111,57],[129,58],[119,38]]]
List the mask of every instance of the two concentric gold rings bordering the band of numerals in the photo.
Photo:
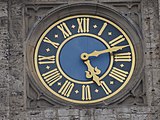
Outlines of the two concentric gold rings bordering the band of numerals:
[[[73,18],[80,18],[80,17],[88,17],[88,18],[96,18],[96,19],[100,19],[100,20],[103,20],[111,25],[113,25],[114,27],[116,27],[126,38],[126,40],[128,41],[129,45],[130,45],[130,48],[131,48],[131,52],[132,52],[132,67],[131,67],[131,70],[130,70],[130,73],[127,77],[127,79],[125,80],[125,82],[123,83],[123,85],[121,87],[119,87],[114,93],[104,97],[104,98],[100,98],[98,100],[91,100],[91,101],[78,101],[78,100],[72,100],[70,98],[66,98],[62,95],[59,95],[58,93],[56,93],[55,91],[53,91],[43,80],[43,78],[41,77],[41,74],[39,72],[39,69],[38,69],[38,61],[37,61],[37,53],[38,53],[38,49],[39,49],[39,46],[40,46],[40,43],[42,42],[42,40],[44,39],[44,37],[46,36],[46,34],[53,28],[55,27],[56,25],[66,21],[66,20],[69,20],[69,19],[73,19]],[[92,35],[92,34],[85,34],[85,33],[78,33],[78,34],[75,34],[75,35],[72,35],[71,37],[67,38],[66,40],[64,40],[64,42],[62,42],[62,44],[60,45],[60,47],[58,48],[57,50],[57,54],[56,54],[56,64],[57,64],[57,67],[59,69],[59,71],[61,72],[61,74],[67,79],[67,80],[70,80],[74,83],[79,83],[79,84],[90,84],[90,83],[93,83],[93,81],[90,81],[90,82],[80,82],[80,81],[76,81],[76,80],[73,80],[71,78],[69,78],[64,72],[63,70],[61,69],[60,67],[60,64],[59,64],[59,52],[62,48],[62,46],[68,42],[70,39],[74,38],[74,37],[78,37],[78,36],[91,36],[91,37],[95,37],[97,38],[98,40],[102,41],[108,48],[110,48],[110,46],[100,37],[96,36],[96,35]],[[131,43],[131,40],[130,38],[127,36],[127,34],[119,27],[117,26],[115,23],[105,19],[105,18],[102,18],[102,17],[99,17],[99,16],[92,16],[92,15],[76,15],[76,16],[69,16],[67,18],[64,18],[62,20],[59,20],[58,22],[54,23],[53,25],[51,25],[43,34],[42,36],[40,37],[40,39],[38,40],[38,44],[36,46],[36,49],[35,49],[35,58],[34,58],[34,63],[35,63],[35,69],[36,69],[36,72],[38,74],[38,77],[39,79],[41,80],[41,82],[43,83],[43,85],[47,88],[47,90],[49,90],[51,93],[53,93],[54,95],[56,95],[57,97],[63,99],[63,100],[66,100],[66,101],[69,101],[69,102],[73,102],[73,103],[79,103],[79,104],[89,104],[89,103],[97,103],[97,102],[100,102],[100,101],[104,101],[104,100],[107,100],[108,98],[116,95],[119,91],[121,91],[125,86],[126,84],[129,82],[132,74],[133,74],[133,71],[134,71],[134,66],[135,66],[135,53],[134,53],[134,48],[133,48],[133,45]],[[105,72],[105,74],[102,75],[102,77],[100,79],[103,79],[110,71],[110,69],[112,68],[112,64],[113,64],[113,56],[111,57],[111,64],[109,66],[109,69],[107,70],[107,72]]]

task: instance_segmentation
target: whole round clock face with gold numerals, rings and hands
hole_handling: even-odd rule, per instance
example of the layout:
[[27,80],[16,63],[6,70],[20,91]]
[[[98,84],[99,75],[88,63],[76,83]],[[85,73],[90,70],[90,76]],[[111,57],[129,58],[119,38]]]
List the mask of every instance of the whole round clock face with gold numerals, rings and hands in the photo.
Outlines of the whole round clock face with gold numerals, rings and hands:
[[134,71],[135,51],[126,32],[109,18],[76,15],[43,32],[34,65],[54,96],[72,103],[97,103],[123,91]]

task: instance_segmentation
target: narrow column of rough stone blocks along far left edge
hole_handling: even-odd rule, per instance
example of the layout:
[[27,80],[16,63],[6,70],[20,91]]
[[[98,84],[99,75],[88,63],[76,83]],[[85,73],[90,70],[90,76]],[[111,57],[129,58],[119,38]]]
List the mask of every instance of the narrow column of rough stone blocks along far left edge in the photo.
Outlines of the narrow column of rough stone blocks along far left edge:
[[0,2],[0,119],[9,117],[8,4]]

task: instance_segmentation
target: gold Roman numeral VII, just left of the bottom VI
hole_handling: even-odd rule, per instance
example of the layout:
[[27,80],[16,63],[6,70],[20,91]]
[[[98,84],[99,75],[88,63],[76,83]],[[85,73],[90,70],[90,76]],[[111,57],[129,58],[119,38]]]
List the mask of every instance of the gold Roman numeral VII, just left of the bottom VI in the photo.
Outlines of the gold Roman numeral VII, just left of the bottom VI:
[[63,86],[58,91],[58,93],[61,93],[61,95],[69,97],[73,87],[74,87],[74,83],[71,83],[70,81],[66,80]]

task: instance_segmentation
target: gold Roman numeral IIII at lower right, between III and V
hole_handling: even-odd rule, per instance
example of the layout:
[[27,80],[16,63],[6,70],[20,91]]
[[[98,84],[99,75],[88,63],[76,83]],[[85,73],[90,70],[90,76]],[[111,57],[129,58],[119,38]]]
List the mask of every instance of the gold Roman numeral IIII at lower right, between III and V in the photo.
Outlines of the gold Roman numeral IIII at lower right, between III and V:
[[111,73],[109,76],[113,77],[114,79],[118,80],[119,82],[123,82],[125,78],[127,77],[128,72],[118,69],[116,67],[113,67]]

